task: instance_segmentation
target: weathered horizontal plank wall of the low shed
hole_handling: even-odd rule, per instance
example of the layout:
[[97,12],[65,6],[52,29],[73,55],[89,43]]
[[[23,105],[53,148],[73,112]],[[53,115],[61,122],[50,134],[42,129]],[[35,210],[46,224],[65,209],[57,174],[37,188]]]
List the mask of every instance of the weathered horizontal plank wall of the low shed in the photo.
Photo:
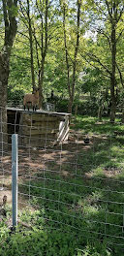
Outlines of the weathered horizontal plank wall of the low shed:
[[21,144],[47,146],[49,142],[59,140],[60,123],[64,122],[64,116],[22,112],[19,124]]

